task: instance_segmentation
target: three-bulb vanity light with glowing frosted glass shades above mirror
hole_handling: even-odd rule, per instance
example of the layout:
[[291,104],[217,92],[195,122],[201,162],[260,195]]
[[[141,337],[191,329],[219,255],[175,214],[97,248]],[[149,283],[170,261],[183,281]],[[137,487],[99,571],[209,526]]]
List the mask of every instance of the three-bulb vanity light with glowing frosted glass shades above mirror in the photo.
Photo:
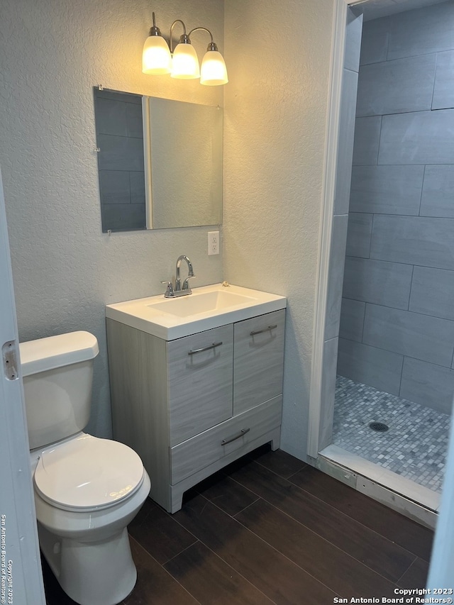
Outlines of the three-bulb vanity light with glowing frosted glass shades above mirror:
[[[172,34],[176,23],[182,24],[183,33],[174,49]],[[211,38],[201,62],[201,68],[199,67],[196,50],[189,38],[192,33],[199,30],[206,31]],[[167,44],[160,33],[160,29],[156,27],[155,13],[153,13],[153,26],[150,28],[150,35],[143,46],[142,71],[144,74],[170,73],[172,78],[179,79],[200,78],[200,84],[206,86],[217,86],[228,82],[226,63],[214,43],[210,30],[197,27],[186,33],[186,26],[183,21],[176,19],[170,26],[169,44]]]

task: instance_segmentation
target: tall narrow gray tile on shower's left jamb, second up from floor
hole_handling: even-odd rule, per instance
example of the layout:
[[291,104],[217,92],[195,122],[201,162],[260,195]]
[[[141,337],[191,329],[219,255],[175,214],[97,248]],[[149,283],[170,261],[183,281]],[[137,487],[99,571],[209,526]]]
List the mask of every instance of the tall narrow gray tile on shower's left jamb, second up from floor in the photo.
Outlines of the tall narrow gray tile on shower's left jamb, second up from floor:
[[348,214],[333,217],[333,236],[331,238],[328,274],[328,296],[326,301],[325,340],[336,338],[339,333],[347,227]]

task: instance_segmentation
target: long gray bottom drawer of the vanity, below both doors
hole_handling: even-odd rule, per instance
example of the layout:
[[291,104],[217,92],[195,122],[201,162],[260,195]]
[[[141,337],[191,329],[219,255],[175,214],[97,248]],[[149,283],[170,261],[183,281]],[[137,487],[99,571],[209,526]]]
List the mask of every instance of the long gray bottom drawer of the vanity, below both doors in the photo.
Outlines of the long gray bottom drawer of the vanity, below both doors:
[[171,448],[172,484],[277,428],[281,416],[282,396],[279,395]]

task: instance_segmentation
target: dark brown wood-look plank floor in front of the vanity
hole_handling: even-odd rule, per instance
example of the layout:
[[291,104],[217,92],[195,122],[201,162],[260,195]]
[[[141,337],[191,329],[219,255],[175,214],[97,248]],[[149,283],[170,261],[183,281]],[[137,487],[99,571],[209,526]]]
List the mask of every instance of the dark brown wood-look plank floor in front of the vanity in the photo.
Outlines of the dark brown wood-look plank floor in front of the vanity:
[[[422,588],[433,532],[304,462],[260,448],[167,514],[129,526],[138,569],[123,605],[325,605]],[[74,601],[44,566],[48,605]],[[380,599],[381,601],[381,599]]]

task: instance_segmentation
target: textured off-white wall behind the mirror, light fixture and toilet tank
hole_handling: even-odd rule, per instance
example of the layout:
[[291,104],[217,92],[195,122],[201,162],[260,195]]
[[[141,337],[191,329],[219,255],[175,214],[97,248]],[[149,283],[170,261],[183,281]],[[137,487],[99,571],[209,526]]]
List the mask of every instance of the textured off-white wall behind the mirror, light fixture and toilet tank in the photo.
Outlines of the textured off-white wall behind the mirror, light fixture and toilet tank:
[[[88,430],[101,436],[111,434],[104,305],[163,292],[182,253],[194,285],[222,279],[206,228],[101,233],[92,87],[223,105],[220,87],[142,74],[152,10],[162,33],[181,18],[223,51],[222,0],[1,1],[0,165],[19,335],[96,335]],[[206,37],[192,39],[200,58]]]

